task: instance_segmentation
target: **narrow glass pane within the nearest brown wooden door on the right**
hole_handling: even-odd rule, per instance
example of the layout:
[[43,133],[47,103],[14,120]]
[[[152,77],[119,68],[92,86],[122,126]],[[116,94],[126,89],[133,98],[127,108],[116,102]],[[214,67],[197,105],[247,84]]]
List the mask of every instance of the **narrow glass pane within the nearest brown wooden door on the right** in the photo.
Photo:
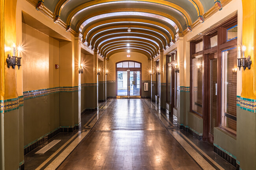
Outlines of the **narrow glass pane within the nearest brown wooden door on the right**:
[[[212,54],[212,55],[216,55]],[[217,59],[210,60],[210,133],[217,126]]]

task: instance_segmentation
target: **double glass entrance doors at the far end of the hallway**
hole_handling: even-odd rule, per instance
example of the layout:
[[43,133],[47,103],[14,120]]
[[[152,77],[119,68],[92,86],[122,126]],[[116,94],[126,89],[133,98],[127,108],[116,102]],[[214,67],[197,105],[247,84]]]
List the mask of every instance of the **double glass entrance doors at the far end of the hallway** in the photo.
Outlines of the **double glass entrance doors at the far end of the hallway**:
[[140,96],[140,71],[117,71],[117,96]]

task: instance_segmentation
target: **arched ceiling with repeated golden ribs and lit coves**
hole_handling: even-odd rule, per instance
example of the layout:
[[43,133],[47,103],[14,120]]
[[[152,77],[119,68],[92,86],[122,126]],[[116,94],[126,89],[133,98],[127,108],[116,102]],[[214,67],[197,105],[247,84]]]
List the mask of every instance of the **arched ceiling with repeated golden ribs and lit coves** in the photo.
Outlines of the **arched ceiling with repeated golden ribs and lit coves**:
[[151,58],[170,46],[175,35],[198,20],[214,1],[44,0],[44,5],[56,19],[81,33],[102,57],[130,49]]

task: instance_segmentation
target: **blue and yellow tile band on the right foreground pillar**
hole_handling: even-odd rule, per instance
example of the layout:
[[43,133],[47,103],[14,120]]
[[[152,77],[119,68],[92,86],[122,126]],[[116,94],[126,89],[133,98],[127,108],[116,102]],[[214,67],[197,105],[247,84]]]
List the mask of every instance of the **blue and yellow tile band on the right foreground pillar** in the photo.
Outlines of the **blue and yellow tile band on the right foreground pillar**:
[[243,110],[256,113],[256,100],[236,96],[236,105]]

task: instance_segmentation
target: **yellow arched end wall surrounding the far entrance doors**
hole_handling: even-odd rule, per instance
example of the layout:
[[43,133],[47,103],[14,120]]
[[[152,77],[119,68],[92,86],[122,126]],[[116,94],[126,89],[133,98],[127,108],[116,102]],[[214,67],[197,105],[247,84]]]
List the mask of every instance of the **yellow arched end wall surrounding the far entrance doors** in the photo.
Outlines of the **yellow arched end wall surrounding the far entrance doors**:
[[109,63],[108,63],[108,76],[107,80],[115,80],[115,63],[123,60],[134,60],[137,62],[141,62],[142,64],[142,80],[150,80],[150,74],[149,74],[149,63],[148,63],[148,58],[147,56],[141,54],[141,53],[136,53],[136,52],[130,52],[131,57],[127,58],[126,57],[127,52],[121,52],[121,53],[116,53],[112,55],[109,58]]

